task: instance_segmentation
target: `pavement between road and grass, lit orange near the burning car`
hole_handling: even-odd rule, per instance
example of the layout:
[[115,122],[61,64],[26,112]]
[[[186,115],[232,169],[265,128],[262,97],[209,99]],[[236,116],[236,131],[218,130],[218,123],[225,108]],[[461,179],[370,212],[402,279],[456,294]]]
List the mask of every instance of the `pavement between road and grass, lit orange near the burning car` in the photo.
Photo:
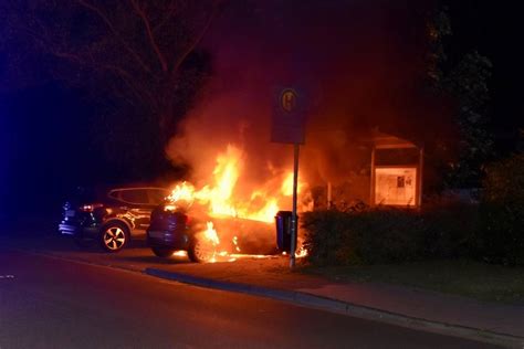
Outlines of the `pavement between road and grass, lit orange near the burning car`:
[[404,327],[524,348],[524,306],[497,305],[375,283],[333,283],[290,272],[287,260],[147,267],[146,274],[263,296]]

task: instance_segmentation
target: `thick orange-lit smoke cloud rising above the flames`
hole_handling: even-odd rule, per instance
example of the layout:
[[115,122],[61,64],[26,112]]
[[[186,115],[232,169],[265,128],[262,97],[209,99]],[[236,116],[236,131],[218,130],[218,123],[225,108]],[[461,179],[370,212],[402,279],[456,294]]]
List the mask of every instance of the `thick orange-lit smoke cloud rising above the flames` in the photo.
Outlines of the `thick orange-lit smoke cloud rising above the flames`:
[[168,157],[189,162],[197,186],[229,144],[244,154],[244,182],[291,169],[292,147],[270,142],[271,116],[274,91],[297,84],[310,95],[301,157],[308,182],[336,182],[357,168],[359,140],[373,127],[411,139],[434,133],[432,120],[442,118],[420,88],[431,8],[422,2],[232,2],[203,43],[214,75]]

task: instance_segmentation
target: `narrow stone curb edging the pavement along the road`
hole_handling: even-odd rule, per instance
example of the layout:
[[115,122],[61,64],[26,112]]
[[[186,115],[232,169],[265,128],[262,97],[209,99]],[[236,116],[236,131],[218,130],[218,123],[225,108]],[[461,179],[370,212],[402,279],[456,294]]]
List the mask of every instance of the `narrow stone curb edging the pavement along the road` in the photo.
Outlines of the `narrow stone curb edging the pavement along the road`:
[[276,299],[295,304],[298,306],[323,309],[346,316],[386,322],[395,326],[401,326],[409,329],[460,337],[464,339],[500,345],[507,348],[524,348],[524,337],[500,334],[486,329],[479,329],[468,326],[432,321],[423,318],[410,317],[402,314],[390,313],[387,310],[360,306],[357,304],[352,304],[338,299],[321,297],[303,292],[284,290],[250,284],[222,282],[150,267],[145,268],[144,274],[206,288],[214,288],[226,292],[242,293],[252,296]]

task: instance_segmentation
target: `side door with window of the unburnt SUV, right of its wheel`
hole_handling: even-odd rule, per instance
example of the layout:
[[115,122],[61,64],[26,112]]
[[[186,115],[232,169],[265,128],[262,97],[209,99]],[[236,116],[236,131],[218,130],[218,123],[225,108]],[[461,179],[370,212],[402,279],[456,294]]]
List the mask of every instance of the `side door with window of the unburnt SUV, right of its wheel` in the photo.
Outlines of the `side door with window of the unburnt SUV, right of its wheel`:
[[149,226],[151,211],[155,208],[155,204],[149,201],[148,189],[122,189],[119,200],[128,205],[126,215],[135,225],[132,234],[145,235],[146,229]]

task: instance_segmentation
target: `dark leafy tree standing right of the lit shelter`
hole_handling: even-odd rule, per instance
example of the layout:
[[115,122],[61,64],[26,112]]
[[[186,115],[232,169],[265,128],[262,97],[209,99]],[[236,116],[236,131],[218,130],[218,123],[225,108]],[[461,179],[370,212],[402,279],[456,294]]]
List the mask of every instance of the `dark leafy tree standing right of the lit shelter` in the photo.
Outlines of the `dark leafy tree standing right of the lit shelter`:
[[430,85],[442,97],[454,102],[453,119],[459,141],[442,147],[458,152],[444,166],[448,188],[479,187],[483,167],[493,155],[493,140],[488,131],[490,101],[489,81],[493,65],[479,52],[470,52],[450,62],[446,40],[452,35],[447,8],[438,10],[428,23],[430,54],[427,75]]

